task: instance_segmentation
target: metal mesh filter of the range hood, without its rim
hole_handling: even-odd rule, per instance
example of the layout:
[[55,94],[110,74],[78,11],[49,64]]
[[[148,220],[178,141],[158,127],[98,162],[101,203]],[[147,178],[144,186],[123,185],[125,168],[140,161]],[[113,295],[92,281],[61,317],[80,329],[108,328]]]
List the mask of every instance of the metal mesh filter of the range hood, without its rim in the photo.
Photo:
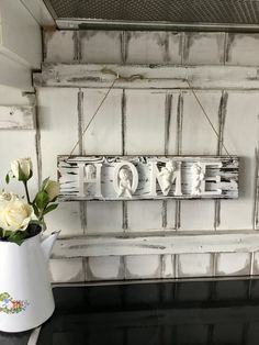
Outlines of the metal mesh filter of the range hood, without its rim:
[[258,24],[259,0],[47,0],[57,19]]

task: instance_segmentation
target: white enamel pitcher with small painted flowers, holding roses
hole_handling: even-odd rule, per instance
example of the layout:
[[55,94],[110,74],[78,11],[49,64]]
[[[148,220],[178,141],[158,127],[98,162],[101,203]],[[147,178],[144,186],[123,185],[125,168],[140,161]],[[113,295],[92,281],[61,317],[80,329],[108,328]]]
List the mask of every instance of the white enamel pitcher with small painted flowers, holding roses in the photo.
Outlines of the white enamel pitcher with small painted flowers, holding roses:
[[45,322],[55,304],[48,258],[59,232],[21,246],[0,241],[0,331],[23,332]]

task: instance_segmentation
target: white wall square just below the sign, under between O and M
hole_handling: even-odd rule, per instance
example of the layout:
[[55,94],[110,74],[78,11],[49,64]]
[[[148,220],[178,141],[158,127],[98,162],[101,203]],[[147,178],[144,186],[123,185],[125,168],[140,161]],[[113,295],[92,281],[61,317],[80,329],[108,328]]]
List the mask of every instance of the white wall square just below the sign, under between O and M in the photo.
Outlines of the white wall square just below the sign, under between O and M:
[[128,232],[156,231],[162,227],[162,201],[127,202]]

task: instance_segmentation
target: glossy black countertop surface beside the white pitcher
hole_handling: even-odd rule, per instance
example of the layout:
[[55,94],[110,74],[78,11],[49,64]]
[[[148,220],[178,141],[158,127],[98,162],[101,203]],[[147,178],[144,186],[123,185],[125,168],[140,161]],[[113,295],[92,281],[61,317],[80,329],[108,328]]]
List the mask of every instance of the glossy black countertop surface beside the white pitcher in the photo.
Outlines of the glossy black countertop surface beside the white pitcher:
[[38,345],[259,345],[259,280],[54,289]]

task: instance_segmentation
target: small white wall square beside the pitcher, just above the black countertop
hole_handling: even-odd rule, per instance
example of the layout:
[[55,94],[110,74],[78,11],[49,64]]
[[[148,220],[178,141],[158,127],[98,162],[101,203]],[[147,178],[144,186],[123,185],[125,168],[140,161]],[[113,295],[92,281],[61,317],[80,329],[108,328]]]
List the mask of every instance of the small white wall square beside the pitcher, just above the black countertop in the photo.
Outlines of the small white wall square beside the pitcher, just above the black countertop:
[[53,282],[85,281],[82,259],[52,259],[49,269]]

